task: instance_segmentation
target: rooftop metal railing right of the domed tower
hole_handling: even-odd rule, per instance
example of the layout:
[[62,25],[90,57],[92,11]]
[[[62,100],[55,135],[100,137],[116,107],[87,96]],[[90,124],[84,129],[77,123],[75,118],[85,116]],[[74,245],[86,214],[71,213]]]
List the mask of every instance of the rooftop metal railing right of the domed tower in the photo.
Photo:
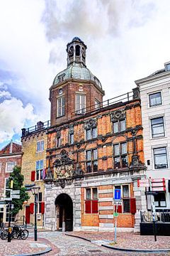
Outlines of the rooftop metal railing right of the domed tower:
[[130,100],[134,100],[134,92],[127,92],[123,95],[119,95],[117,97],[113,97],[109,100],[104,100],[103,102],[97,102],[95,105],[90,105],[89,107],[84,107],[80,110],[72,112],[72,117],[84,115],[89,112],[96,112],[97,110],[101,110],[103,107],[108,107],[116,103],[128,102]]

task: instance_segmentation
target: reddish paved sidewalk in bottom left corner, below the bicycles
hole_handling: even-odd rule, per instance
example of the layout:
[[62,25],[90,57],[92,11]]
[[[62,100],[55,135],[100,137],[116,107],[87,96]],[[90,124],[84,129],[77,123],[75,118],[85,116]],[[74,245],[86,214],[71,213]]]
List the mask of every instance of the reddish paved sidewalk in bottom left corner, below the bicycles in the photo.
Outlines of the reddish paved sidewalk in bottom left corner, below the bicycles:
[[26,240],[7,240],[0,239],[0,255],[25,255],[34,253],[40,253],[42,251],[52,248],[52,252],[48,252],[48,256],[57,254],[59,251],[57,247],[52,245],[52,243],[45,238],[38,238],[38,241],[34,241],[33,238],[27,238]]

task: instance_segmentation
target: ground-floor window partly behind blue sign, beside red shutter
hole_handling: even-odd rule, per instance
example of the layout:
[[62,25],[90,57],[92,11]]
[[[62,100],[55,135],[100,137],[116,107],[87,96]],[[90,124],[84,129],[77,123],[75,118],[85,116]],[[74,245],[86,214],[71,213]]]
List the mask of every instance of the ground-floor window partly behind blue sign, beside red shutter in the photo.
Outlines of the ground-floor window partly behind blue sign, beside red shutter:
[[123,200],[123,209],[120,208],[120,213],[130,213],[130,189],[129,185],[115,186],[115,189],[121,189]]

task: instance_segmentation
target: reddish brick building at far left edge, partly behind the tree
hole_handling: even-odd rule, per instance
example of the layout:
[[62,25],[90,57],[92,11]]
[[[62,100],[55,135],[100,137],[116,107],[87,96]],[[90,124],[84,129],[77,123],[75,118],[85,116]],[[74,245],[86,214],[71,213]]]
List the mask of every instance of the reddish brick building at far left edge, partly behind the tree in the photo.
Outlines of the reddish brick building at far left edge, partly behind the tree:
[[[21,145],[10,142],[0,151],[0,221],[8,222],[8,208],[4,196],[8,196],[8,177],[14,166],[21,166]],[[13,217],[12,217],[13,220]]]

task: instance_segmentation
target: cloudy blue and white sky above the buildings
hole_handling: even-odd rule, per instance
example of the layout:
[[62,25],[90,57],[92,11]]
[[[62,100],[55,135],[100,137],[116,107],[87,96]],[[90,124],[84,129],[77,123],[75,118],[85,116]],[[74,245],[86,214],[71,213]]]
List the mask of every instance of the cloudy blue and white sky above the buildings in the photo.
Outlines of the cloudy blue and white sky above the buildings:
[[170,60],[168,0],[0,2],[0,149],[50,119],[49,88],[79,36],[87,67],[111,98]]

